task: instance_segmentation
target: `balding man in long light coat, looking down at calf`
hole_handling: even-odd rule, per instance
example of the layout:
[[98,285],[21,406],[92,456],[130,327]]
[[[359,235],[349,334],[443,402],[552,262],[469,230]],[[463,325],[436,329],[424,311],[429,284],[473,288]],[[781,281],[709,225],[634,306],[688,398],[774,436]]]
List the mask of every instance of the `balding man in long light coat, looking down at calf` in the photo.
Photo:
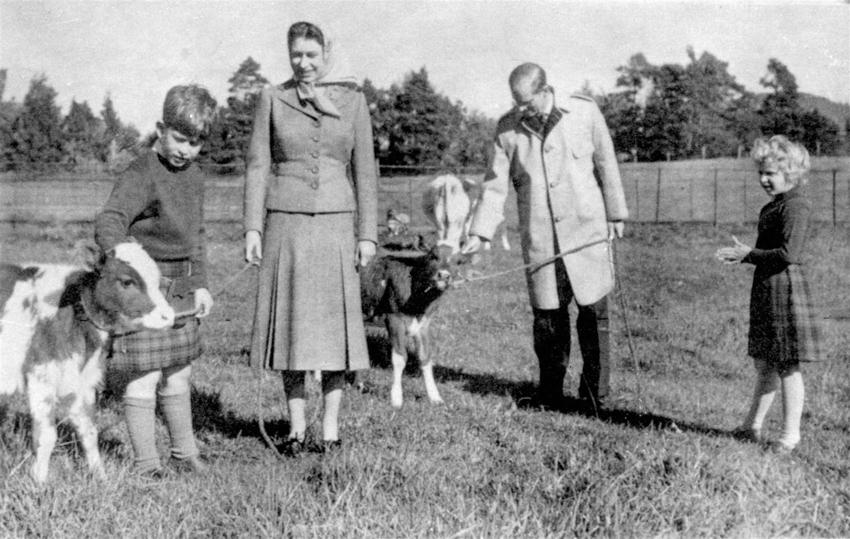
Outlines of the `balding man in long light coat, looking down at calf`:
[[504,218],[509,186],[517,192],[526,273],[540,362],[540,403],[559,407],[570,360],[570,315],[583,368],[579,396],[592,407],[609,393],[608,294],[614,287],[609,239],[622,237],[628,216],[614,146],[592,98],[555,103],[539,65],[519,65],[509,79],[517,104],[498,123],[483,193],[463,252],[478,250]]

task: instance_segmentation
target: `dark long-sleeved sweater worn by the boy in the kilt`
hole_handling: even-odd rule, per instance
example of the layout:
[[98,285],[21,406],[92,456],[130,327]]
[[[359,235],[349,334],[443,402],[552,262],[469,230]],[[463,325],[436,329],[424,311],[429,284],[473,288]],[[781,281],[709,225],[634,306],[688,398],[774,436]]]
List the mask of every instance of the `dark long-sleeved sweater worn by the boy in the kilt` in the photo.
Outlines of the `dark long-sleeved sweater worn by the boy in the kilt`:
[[156,261],[189,259],[190,289],[207,287],[204,177],[194,163],[175,169],[150,151],[118,179],[95,221],[94,239],[109,250],[132,236]]

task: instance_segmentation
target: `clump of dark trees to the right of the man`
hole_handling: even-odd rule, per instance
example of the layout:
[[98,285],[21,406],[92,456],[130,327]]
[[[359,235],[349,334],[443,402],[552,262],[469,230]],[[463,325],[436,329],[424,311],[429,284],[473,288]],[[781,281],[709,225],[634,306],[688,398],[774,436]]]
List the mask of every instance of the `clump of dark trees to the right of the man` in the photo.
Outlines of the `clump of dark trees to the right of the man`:
[[[795,77],[770,59],[766,93],[748,92],[711,53],[688,48],[688,65],[652,65],[635,54],[618,68],[617,92],[594,94],[615,148],[635,160],[740,156],[754,138],[787,135],[814,154],[846,154],[839,126],[804,109]],[[844,132],[850,129],[845,118]]]

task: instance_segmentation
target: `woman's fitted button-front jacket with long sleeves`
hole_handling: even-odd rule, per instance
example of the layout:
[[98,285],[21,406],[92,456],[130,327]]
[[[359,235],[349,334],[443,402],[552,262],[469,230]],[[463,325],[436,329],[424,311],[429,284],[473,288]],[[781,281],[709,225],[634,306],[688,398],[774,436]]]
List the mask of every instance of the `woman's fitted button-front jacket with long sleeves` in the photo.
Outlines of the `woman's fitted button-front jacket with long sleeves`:
[[293,81],[258,98],[246,159],[245,228],[265,211],[357,214],[358,239],[377,241],[377,174],[369,108],[350,84],[325,87],[340,116],[298,98]]

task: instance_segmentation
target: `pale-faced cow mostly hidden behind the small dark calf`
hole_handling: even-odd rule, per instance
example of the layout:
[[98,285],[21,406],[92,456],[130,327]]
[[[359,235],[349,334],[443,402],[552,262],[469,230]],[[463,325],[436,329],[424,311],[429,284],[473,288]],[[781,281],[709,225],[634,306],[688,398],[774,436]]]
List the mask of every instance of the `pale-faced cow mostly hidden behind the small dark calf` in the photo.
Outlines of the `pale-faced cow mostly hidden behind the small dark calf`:
[[[448,245],[452,254],[461,249],[462,242],[469,235],[480,196],[481,186],[478,183],[451,174],[435,177],[428,184],[422,194],[422,211],[437,227],[438,245]],[[504,225],[499,227],[499,235],[502,249],[511,250]],[[490,242],[484,242],[482,247],[489,250]]]

